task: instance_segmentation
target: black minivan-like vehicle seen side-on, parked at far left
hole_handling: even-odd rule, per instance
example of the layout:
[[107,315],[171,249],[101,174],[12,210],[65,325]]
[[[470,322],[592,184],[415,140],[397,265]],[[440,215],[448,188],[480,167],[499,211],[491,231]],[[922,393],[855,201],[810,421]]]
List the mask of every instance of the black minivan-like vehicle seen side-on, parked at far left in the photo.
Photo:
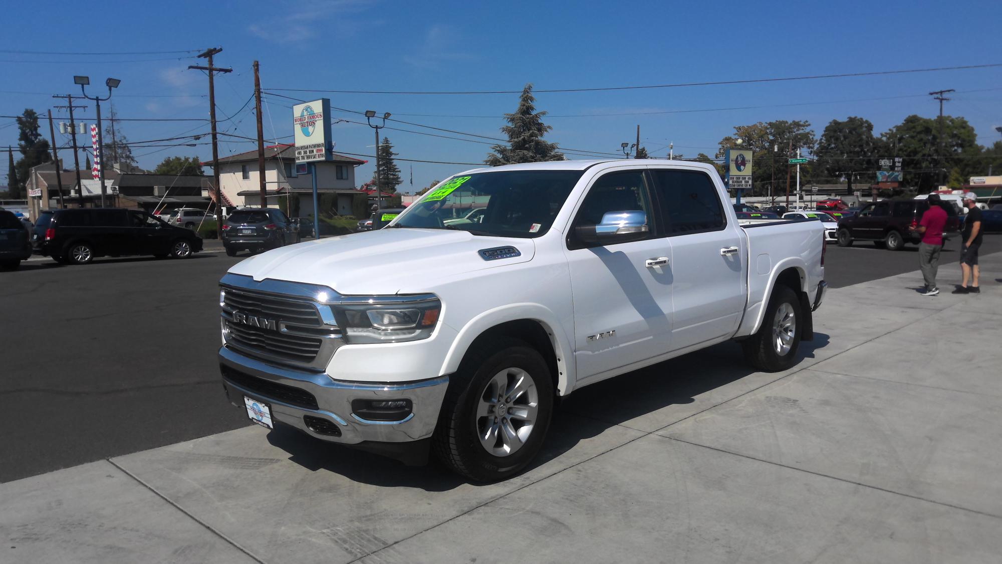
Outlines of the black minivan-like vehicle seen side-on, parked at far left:
[[42,212],[31,245],[35,254],[57,262],[87,264],[102,256],[184,259],[201,251],[201,238],[139,210],[82,208]]

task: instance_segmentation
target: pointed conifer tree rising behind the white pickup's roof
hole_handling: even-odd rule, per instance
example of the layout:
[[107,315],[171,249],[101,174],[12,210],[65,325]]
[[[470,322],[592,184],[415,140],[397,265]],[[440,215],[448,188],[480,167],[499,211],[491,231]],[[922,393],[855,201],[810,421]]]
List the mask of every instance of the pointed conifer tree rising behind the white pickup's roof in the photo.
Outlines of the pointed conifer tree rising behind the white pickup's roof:
[[543,123],[545,111],[536,111],[536,97],[532,95],[532,83],[525,85],[519,98],[518,109],[505,113],[508,125],[501,132],[508,135],[508,147],[496,145],[494,153],[487,155],[484,163],[491,167],[515,163],[539,163],[541,161],[563,161],[555,143],[543,140],[543,135],[553,128]]

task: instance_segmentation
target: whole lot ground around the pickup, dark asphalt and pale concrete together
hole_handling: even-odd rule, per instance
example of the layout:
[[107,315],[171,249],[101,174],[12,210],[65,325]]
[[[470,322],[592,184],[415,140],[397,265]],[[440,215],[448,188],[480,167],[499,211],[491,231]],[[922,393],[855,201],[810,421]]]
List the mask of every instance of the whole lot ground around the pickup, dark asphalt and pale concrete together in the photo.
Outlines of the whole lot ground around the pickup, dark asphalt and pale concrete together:
[[491,486],[247,427],[214,359],[238,259],[28,263],[0,274],[24,424],[0,480],[33,476],[0,485],[0,560],[990,562],[998,244],[981,295],[934,298],[913,251],[830,246],[793,369],[724,344],[582,388],[539,464]]

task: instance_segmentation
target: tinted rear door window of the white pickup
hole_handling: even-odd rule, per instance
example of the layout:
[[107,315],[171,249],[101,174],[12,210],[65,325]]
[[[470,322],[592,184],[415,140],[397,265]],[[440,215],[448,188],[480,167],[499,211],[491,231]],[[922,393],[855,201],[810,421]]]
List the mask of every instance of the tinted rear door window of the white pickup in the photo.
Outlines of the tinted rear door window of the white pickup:
[[[651,169],[669,235],[719,231],[726,223],[713,181],[699,171]],[[755,212],[760,213],[760,212]]]

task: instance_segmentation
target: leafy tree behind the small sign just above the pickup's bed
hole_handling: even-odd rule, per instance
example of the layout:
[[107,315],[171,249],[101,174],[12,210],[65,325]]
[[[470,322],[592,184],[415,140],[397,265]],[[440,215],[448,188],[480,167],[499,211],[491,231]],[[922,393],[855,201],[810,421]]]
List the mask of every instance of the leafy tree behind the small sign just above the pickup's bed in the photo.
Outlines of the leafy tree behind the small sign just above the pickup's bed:
[[[738,138],[742,142],[740,146],[737,145]],[[777,186],[780,186],[780,179],[787,174],[787,159],[796,157],[798,149],[805,155],[812,155],[817,139],[814,130],[811,129],[810,121],[778,119],[759,121],[750,125],[735,125],[734,134],[723,137],[719,145],[720,149],[716,152],[717,159],[723,159],[727,149],[739,148],[753,152],[752,176],[756,181],[755,187],[762,191],[761,187],[766,187],[767,182],[772,182],[774,161]],[[774,148],[777,150],[775,154]],[[808,170],[802,168],[802,177],[810,174],[810,168]]]

